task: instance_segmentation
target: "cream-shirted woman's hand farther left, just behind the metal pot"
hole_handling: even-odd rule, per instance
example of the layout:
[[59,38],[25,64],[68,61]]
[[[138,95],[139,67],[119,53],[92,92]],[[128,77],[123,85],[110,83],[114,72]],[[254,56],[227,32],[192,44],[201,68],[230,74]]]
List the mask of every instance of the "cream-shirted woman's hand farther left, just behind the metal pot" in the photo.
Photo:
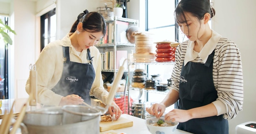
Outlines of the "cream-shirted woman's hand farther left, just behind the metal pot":
[[61,98],[59,106],[63,105],[79,105],[82,104],[84,100],[79,95],[67,95]]

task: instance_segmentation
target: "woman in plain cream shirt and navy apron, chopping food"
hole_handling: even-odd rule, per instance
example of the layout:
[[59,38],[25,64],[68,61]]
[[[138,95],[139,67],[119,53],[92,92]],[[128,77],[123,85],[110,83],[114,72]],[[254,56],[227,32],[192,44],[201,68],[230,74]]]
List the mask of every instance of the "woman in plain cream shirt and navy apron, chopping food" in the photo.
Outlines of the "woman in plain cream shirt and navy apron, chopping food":
[[[97,12],[83,11],[70,33],[49,43],[36,61],[38,103],[48,106],[91,104],[95,97],[106,104],[108,91],[103,87],[101,54],[94,46],[106,35],[106,22]],[[29,93],[29,79],[26,84]],[[118,119],[122,111],[113,101],[110,115]]]

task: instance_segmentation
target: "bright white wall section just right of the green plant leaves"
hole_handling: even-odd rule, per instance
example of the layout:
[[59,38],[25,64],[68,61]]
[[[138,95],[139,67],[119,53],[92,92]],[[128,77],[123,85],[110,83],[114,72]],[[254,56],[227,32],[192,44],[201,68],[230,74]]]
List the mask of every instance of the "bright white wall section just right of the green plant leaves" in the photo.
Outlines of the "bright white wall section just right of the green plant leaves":
[[[11,26],[16,31],[13,38],[13,50],[9,51],[13,56],[10,72],[14,72],[9,78],[10,98],[24,97],[25,82],[29,76],[29,65],[34,64],[35,55],[35,2],[29,0],[12,0],[11,2]],[[13,68],[12,68],[13,67]],[[13,86],[12,86],[13,85]]]

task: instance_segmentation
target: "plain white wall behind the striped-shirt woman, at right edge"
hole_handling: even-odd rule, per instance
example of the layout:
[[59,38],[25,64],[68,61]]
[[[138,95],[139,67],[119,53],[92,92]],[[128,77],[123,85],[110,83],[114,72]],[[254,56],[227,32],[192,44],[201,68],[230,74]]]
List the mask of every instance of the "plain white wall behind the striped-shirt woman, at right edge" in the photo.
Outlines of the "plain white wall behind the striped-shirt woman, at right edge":
[[234,41],[240,49],[244,76],[243,111],[229,121],[229,132],[234,134],[236,125],[256,121],[256,0],[214,0],[216,16],[212,28]]

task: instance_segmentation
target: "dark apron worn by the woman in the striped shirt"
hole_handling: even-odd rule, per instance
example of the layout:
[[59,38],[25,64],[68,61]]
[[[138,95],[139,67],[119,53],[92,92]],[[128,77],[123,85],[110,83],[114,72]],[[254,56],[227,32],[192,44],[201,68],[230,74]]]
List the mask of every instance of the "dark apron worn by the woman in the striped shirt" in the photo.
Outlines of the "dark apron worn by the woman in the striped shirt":
[[[188,62],[180,73],[179,109],[205,106],[217,99],[213,84],[213,52],[205,64]],[[228,121],[219,116],[191,119],[180,123],[177,129],[194,134],[228,134]]]

